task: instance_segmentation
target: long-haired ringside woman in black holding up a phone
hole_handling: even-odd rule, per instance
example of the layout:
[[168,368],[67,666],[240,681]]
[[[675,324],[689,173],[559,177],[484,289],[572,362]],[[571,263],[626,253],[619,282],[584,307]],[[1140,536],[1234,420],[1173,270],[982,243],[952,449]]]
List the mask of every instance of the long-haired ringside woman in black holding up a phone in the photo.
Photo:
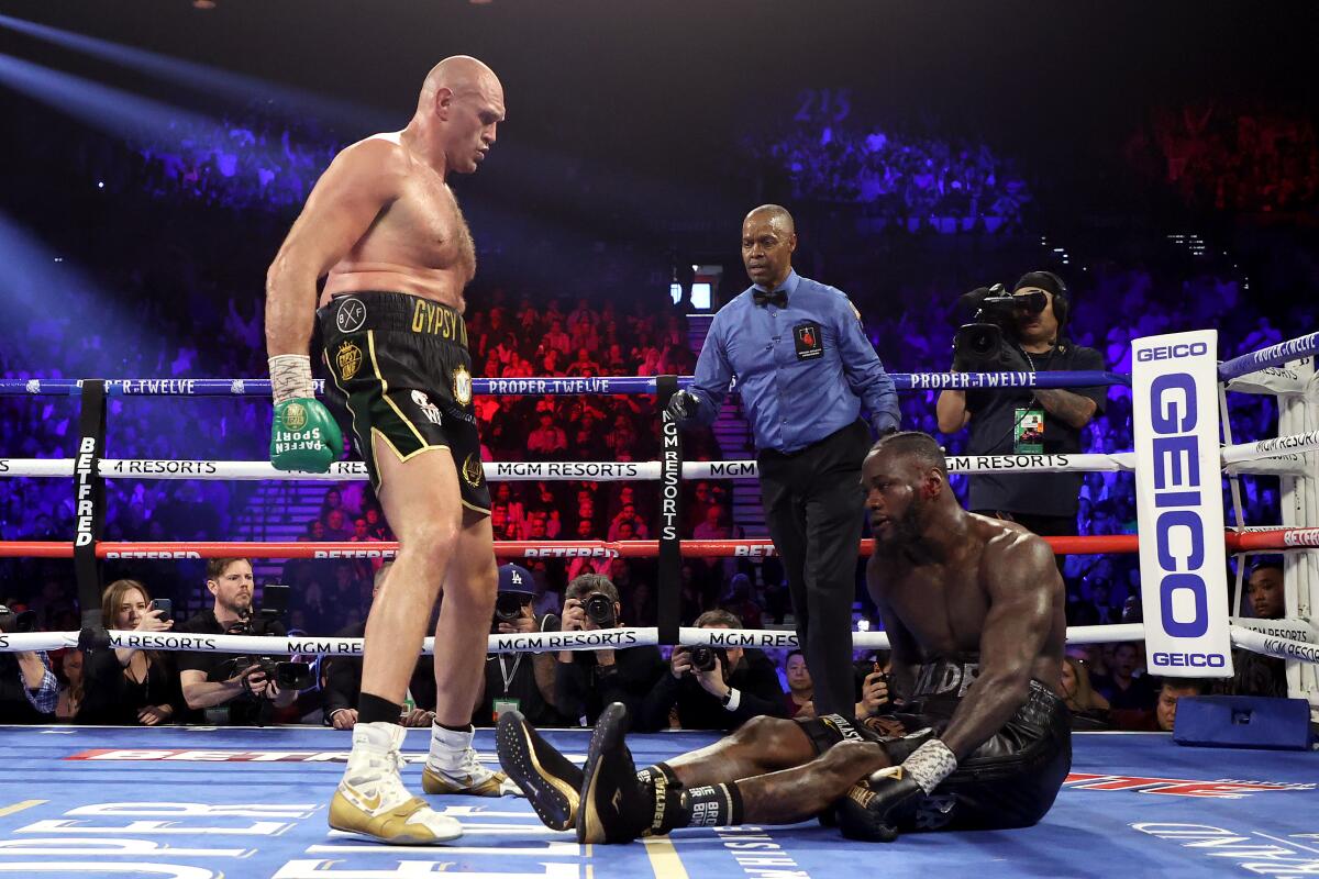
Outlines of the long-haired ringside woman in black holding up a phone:
[[[174,621],[152,608],[137,580],[116,580],[102,593],[100,618],[119,631],[169,631]],[[86,660],[86,697],[79,723],[156,726],[169,723],[182,706],[178,671],[168,654],[136,647],[92,651]]]

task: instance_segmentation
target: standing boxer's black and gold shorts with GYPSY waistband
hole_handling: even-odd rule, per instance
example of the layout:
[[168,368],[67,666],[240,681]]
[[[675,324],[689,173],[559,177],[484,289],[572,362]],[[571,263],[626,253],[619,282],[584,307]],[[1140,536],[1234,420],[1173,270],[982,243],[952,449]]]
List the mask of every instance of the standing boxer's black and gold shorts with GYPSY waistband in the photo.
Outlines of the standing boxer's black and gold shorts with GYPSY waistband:
[[404,461],[443,448],[463,506],[489,514],[463,316],[430,299],[377,291],[335,297],[317,316],[326,368],[372,488],[380,489],[381,444]]

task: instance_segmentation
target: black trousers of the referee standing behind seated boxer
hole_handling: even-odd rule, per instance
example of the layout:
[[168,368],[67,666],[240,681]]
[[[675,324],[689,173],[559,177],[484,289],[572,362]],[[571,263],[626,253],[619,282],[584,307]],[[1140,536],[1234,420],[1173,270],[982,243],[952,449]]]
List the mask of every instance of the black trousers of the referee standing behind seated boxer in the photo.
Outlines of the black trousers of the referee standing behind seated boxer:
[[861,461],[871,448],[864,422],[785,455],[757,456],[769,536],[783,561],[797,639],[815,687],[815,714],[851,717],[852,600],[865,497]]

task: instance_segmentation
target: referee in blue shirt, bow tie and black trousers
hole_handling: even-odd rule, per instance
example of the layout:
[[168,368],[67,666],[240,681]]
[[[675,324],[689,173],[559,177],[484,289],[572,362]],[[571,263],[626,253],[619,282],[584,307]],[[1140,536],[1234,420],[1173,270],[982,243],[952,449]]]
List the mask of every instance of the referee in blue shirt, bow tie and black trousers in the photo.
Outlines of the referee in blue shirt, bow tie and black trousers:
[[752,286],[715,315],[695,380],[669,412],[679,423],[714,422],[736,376],[815,709],[852,717],[861,460],[871,447],[859,415],[864,403],[882,436],[898,427],[898,401],[860,312],[840,290],[793,271],[795,249],[786,210],[764,204],[747,215],[741,254]]

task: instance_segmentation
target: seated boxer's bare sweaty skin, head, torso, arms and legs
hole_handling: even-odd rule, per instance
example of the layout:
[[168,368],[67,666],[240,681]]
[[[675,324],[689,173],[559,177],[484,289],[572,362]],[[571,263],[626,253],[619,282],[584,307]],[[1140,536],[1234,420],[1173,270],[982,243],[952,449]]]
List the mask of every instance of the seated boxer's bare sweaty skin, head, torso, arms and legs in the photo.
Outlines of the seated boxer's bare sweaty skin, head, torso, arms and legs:
[[[865,459],[876,538],[867,585],[889,634],[896,697],[911,693],[922,662],[979,651],[980,676],[940,737],[960,760],[1026,701],[1031,677],[1057,688],[1067,625],[1049,544],[1021,526],[963,510],[942,455],[936,461],[904,453],[894,441]],[[669,764],[686,787],[737,780],[748,824],[793,824],[889,760],[872,742],[842,742],[815,756],[795,722],[760,717]]]

